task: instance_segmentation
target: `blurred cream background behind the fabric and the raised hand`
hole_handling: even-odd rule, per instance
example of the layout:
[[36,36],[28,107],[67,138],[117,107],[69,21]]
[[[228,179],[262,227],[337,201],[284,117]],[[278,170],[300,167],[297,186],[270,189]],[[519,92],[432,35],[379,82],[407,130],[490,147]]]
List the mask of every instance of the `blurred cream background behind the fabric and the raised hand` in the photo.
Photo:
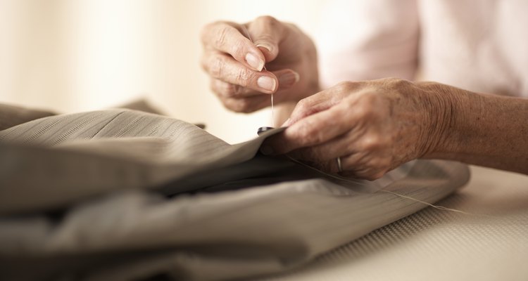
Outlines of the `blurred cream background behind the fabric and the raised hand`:
[[0,0],[0,103],[80,112],[146,98],[229,143],[271,124],[222,107],[199,65],[200,30],[272,15],[315,35],[320,0]]

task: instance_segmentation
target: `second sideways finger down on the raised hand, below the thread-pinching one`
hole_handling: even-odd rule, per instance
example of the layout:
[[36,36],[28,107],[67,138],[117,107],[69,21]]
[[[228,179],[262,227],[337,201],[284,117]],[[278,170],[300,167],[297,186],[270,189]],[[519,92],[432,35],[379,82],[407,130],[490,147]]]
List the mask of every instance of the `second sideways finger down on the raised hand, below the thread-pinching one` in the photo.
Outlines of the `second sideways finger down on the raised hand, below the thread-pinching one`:
[[203,55],[201,65],[215,79],[263,93],[277,91],[278,81],[275,74],[250,70],[225,53],[210,51]]

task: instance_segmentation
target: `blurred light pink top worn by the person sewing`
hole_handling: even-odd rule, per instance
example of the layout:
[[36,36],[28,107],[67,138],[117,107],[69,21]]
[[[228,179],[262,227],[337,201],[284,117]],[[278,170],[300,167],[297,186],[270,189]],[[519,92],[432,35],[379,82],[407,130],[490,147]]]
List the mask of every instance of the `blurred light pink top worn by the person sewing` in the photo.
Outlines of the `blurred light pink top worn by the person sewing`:
[[323,86],[400,77],[528,97],[528,1],[336,0],[317,38]]

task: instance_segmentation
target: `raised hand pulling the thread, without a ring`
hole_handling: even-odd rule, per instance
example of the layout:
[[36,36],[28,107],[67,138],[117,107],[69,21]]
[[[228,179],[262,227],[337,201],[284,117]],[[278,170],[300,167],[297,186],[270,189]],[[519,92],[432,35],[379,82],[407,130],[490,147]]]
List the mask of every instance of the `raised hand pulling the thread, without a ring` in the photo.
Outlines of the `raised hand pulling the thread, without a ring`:
[[315,45],[306,34],[270,16],[245,26],[253,42],[234,22],[213,22],[201,33],[201,65],[225,107],[253,112],[270,105],[271,93],[279,104],[318,92]]

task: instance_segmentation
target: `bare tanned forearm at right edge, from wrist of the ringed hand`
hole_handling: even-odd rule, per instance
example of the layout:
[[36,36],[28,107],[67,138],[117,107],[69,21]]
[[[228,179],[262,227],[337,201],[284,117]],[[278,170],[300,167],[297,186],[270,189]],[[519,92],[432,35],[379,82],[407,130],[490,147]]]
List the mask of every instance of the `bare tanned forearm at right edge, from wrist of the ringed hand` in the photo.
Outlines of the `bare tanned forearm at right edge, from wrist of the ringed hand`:
[[[425,158],[528,174],[528,100],[436,86],[441,114],[439,138]],[[438,131],[438,130],[437,130]]]

